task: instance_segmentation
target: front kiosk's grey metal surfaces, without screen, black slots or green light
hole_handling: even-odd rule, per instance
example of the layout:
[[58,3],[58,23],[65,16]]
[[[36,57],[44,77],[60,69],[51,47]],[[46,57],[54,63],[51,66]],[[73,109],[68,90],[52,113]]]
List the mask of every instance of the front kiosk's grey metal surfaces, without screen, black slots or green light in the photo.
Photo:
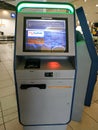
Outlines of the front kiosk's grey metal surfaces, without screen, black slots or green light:
[[[40,53],[40,52],[23,52],[23,31],[24,31],[24,17],[45,17],[48,18],[66,18],[68,19],[68,52],[63,53]],[[20,24],[21,23],[21,24]],[[62,57],[75,57],[75,34],[74,30],[74,15],[70,14],[31,14],[18,13],[17,30],[16,30],[16,89],[17,102],[19,110],[19,119],[23,125],[51,125],[45,130],[50,129],[64,129],[65,126],[60,124],[67,124],[70,121],[70,114],[72,109],[72,97],[74,88],[75,67],[68,59]],[[41,67],[38,69],[25,69],[25,59],[39,58],[41,60]],[[43,60],[46,57],[47,60]],[[61,61],[56,59],[62,59]],[[48,61],[58,62],[60,67],[49,68]],[[45,73],[52,72],[53,76],[47,77]],[[33,87],[21,89],[21,85],[31,85]],[[45,89],[39,89],[34,84],[45,84]],[[59,124],[52,128],[52,125]],[[24,130],[31,130],[33,127],[24,127]],[[35,127],[35,130],[43,129],[44,127]]]

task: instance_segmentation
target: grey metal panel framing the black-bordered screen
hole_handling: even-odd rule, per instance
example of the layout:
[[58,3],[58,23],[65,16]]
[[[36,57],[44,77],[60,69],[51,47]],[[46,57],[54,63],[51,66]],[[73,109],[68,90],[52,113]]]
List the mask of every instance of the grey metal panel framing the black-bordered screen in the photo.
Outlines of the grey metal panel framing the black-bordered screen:
[[[46,17],[46,18],[67,18],[68,19],[68,52],[64,53],[47,53],[47,56],[75,56],[75,44],[74,44],[74,38],[75,34],[73,33],[74,30],[74,15],[67,15],[67,14],[55,14],[55,15],[49,15],[49,14],[24,14],[24,13],[19,13],[18,18],[17,18],[17,32],[16,32],[16,54],[17,55],[36,55],[36,56],[45,56],[45,53],[40,53],[40,52],[23,52],[23,30],[24,30],[24,17]],[[18,24],[21,23],[21,24]],[[22,25],[22,26],[21,26]]]

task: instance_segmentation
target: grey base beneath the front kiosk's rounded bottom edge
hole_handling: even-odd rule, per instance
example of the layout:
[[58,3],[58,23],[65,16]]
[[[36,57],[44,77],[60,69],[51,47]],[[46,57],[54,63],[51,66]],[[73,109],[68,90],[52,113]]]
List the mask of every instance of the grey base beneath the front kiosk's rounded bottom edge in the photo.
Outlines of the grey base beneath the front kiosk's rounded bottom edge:
[[23,130],[66,130],[67,125],[24,126]]

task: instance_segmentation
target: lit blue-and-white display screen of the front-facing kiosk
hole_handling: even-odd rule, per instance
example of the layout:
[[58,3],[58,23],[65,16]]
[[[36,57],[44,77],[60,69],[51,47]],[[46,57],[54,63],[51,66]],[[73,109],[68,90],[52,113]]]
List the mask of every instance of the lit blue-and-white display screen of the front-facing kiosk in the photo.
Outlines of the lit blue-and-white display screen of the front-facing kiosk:
[[24,18],[23,51],[66,52],[67,19]]

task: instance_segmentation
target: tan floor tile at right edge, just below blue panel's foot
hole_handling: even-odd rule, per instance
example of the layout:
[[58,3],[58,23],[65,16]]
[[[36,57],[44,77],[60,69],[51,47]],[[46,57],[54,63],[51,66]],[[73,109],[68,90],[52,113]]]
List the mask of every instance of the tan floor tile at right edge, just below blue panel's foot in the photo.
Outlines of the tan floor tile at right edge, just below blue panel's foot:
[[90,107],[85,107],[84,111],[98,123],[98,104],[93,103]]

